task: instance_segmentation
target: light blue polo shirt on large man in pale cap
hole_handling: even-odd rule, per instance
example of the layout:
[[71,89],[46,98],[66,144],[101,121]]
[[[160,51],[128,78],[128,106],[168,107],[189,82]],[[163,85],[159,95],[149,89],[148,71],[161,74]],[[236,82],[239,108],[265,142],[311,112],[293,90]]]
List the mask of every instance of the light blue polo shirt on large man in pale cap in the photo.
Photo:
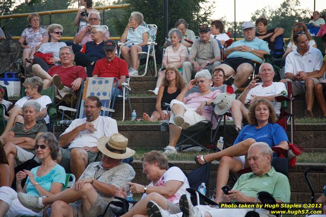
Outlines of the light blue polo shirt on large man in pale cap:
[[[262,40],[262,39],[259,39],[257,37],[255,37],[251,41],[246,41],[244,39],[235,41],[227,49],[231,49],[232,47],[243,46],[243,45],[251,47],[251,48],[253,48],[255,50],[267,51],[267,53],[269,54],[269,49],[268,49],[267,42]],[[254,55],[251,52],[235,51],[235,52],[230,53],[227,56],[227,58],[235,58],[235,57],[243,57],[243,58],[247,58],[249,60],[257,61],[259,63],[263,63],[262,58]]]

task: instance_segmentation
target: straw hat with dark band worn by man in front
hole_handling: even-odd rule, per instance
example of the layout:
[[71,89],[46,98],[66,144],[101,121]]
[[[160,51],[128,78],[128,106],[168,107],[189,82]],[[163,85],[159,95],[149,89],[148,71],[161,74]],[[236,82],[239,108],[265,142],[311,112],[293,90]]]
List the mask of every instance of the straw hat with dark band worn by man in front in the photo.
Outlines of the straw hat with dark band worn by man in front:
[[135,154],[135,151],[127,148],[128,138],[120,133],[99,138],[97,146],[102,154],[113,159],[125,159]]

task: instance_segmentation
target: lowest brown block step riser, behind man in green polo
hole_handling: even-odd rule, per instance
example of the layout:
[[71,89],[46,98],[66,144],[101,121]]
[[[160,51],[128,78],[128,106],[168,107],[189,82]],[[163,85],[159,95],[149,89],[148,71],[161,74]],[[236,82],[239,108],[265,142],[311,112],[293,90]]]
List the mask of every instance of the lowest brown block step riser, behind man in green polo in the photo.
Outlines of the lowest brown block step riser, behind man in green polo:
[[[194,161],[169,161],[174,165],[180,167],[185,172],[190,172],[197,168],[197,164]],[[133,180],[135,183],[147,185],[150,181],[146,180],[146,176],[143,174],[142,162],[140,160],[135,160],[132,164],[136,172],[136,176]],[[290,167],[289,169],[289,181],[291,186],[291,202],[310,202],[311,191],[309,190],[308,184],[305,181],[304,172],[308,166],[326,166],[322,163],[297,163],[295,167]],[[216,187],[216,174],[218,170],[219,163],[213,161],[211,167],[211,176],[209,179],[209,193],[212,194],[214,188]],[[311,172],[309,173],[309,178],[312,186],[315,190],[315,199],[317,199],[322,192],[324,186],[324,180],[326,179],[326,174],[324,172]]]

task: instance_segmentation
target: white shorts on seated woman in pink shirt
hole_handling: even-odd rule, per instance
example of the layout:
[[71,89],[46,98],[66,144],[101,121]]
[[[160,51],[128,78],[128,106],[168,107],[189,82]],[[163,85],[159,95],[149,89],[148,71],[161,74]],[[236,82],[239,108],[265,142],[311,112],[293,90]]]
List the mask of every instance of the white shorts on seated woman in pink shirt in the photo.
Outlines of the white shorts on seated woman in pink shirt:
[[[172,100],[170,103],[170,107],[172,108],[172,106],[174,104],[179,104],[182,105],[183,108],[185,109],[185,112],[183,114],[183,119],[184,122],[187,122],[189,124],[189,126],[193,126],[195,124],[197,124],[198,122],[201,122],[202,120],[206,120],[204,115],[200,115],[196,112],[197,108],[188,108],[187,105],[185,105],[184,103],[178,101],[178,100]],[[170,124],[174,124],[174,114],[172,113],[171,117],[170,117]],[[181,127],[179,127],[181,128]]]

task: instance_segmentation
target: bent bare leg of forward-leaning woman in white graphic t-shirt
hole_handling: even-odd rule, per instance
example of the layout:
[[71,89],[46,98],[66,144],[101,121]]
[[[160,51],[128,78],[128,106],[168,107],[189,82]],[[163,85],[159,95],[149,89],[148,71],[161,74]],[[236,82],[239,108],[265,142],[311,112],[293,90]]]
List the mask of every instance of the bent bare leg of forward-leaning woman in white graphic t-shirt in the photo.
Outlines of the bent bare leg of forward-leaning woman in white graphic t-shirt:
[[132,217],[135,214],[146,215],[146,206],[149,201],[156,202],[162,209],[168,209],[168,201],[165,197],[157,194],[156,192],[150,193],[145,198],[136,203],[126,214],[121,217]]

